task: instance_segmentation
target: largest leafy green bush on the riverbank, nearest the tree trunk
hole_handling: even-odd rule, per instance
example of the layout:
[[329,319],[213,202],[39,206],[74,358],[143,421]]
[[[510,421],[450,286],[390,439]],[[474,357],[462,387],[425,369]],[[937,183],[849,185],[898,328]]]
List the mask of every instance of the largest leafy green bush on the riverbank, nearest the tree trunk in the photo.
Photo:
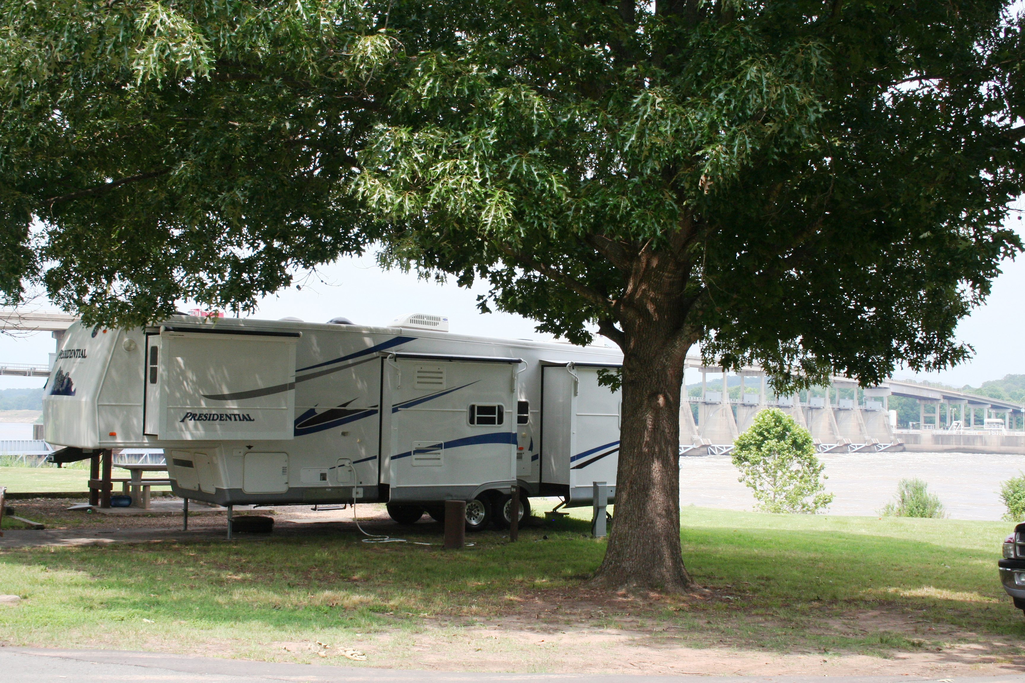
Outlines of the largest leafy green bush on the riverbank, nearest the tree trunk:
[[[733,464],[763,512],[815,514],[832,503],[808,430],[777,409],[762,411],[737,437]],[[809,500],[810,499],[810,500]]]

